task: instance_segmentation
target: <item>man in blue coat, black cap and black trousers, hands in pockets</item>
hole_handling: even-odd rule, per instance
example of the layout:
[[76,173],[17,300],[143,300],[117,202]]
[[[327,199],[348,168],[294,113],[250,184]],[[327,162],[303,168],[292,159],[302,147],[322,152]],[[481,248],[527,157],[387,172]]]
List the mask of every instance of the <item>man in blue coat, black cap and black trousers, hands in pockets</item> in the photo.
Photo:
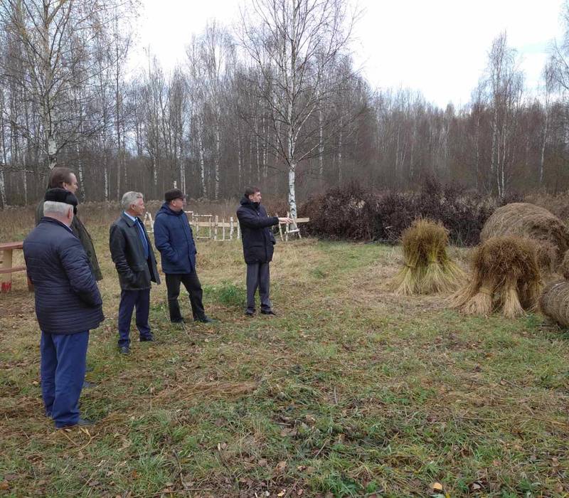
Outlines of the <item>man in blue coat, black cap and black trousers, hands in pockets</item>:
[[180,283],[183,283],[190,296],[193,319],[213,322],[203,310],[203,291],[196,272],[196,244],[184,213],[186,196],[181,190],[172,189],[164,194],[164,201],[154,219],[154,245],[160,251],[162,271],[166,275],[170,320],[184,322],[178,304]]

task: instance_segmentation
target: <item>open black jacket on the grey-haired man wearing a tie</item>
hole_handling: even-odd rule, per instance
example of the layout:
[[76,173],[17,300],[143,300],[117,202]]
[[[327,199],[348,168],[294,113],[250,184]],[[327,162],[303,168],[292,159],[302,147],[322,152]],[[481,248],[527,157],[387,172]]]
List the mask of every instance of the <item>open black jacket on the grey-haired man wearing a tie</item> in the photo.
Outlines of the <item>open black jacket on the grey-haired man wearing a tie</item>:
[[142,228],[148,243],[148,260],[144,257],[144,246],[140,240],[139,228],[131,218],[122,213],[110,228],[111,257],[119,273],[122,290],[149,289],[150,282],[160,283],[156,258],[154,258],[154,251],[144,223]]

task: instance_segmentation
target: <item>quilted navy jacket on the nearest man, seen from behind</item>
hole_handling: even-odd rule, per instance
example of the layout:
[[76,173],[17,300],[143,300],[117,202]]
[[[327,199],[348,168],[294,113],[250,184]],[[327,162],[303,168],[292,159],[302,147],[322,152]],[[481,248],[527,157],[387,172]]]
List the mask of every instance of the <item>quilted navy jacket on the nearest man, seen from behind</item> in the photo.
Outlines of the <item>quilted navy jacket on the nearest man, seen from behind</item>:
[[41,218],[23,241],[23,256],[43,332],[77,334],[96,329],[105,319],[87,254],[63,223]]

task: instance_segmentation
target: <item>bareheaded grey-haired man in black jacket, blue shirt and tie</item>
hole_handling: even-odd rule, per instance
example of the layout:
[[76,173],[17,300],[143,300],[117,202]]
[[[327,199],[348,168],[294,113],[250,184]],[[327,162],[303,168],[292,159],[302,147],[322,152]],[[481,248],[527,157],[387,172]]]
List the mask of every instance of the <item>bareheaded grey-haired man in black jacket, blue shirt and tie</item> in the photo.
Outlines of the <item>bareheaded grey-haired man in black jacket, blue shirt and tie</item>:
[[117,268],[120,283],[119,349],[130,352],[130,320],[136,307],[137,329],[140,341],[154,341],[148,324],[150,311],[150,282],[160,283],[156,258],[144,223],[139,216],[144,213],[144,199],[139,192],[127,192],[122,196],[121,216],[112,223],[109,245],[111,257]]

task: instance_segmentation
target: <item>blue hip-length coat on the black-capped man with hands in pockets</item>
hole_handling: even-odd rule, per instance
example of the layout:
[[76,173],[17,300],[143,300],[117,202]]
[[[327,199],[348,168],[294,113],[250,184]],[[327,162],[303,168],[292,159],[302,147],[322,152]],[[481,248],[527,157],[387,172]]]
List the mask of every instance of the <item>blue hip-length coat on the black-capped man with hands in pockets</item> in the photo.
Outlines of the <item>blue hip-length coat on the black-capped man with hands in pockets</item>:
[[162,205],[154,218],[154,243],[164,273],[184,275],[196,269],[196,244],[184,210],[172,211],[168,203]]

